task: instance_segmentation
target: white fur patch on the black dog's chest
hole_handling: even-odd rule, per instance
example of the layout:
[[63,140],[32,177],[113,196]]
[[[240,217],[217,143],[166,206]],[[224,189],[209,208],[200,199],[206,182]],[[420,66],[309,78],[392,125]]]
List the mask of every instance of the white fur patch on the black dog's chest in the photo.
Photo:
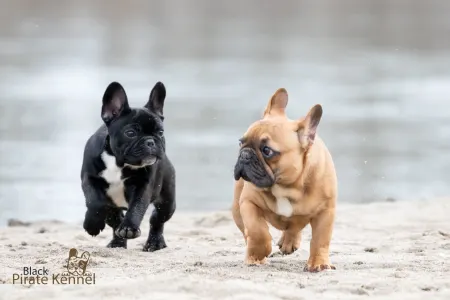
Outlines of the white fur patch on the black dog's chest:
[[122,178],[122,168],[116,165],[116,158],[103,152],[101,155],[106,168],[99,175],[109,184],[106,194],[117,207],[128,208],[125,200],[125,179]]

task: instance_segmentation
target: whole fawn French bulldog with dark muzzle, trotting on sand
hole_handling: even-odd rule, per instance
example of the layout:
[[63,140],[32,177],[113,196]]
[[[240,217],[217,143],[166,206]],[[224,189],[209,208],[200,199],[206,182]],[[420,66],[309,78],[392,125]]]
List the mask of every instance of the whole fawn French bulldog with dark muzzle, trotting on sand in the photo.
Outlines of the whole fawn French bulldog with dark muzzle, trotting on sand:
[[272,252],[268,223],[282,231],[283,254],[300,247],[301,231],[310,224],[312,239],[305,271],[335,269],[329,259],[337,199],[334,163],[317,135],[322,107],[306,117],[288,119],[288,94],[278,89],[263,118],[240,139],[234,168],[233,218],[244,235],[247,264],[261,264]]

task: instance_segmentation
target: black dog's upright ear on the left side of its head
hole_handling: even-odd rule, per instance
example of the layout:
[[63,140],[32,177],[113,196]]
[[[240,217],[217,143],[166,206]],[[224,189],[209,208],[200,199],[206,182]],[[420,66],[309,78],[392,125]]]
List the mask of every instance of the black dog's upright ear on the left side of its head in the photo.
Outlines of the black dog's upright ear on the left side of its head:
[[118,82],[111,82],[103,95],[103,122],[109,124],[129,110],[130,106],[128,105],[128,98],[124,88]]

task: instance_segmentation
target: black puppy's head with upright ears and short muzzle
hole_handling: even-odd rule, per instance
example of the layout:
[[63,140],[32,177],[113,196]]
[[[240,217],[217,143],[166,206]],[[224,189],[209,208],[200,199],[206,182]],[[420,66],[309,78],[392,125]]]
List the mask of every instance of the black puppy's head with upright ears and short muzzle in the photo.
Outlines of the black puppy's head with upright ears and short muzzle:
[[124,88],[112,82],[103,95],[102,119],[119,166],[151,166],[165,155],[163,107],[166,88],[156,83],[143,108],[130,108]]

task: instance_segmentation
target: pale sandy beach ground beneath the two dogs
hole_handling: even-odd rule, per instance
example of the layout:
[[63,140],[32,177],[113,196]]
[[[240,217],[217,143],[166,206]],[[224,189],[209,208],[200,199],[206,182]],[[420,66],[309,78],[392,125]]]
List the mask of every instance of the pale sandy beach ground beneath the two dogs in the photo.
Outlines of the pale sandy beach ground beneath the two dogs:
[[[340,204],[331,246],[336,271],[305,273],[310,228],[301,249],[274,251],[245,266],[244,241],[228,211],[176,213],[169,248],[145,253],[148,224],[128,249],[107,249],[79,224],[16,223],[0,229],[1,299],[450,299],[450,199]],[[272,229],[274,243],[280,232]],[[67,270],[70,248],[90,253],[95,284],[11,284],[23,268]]]

